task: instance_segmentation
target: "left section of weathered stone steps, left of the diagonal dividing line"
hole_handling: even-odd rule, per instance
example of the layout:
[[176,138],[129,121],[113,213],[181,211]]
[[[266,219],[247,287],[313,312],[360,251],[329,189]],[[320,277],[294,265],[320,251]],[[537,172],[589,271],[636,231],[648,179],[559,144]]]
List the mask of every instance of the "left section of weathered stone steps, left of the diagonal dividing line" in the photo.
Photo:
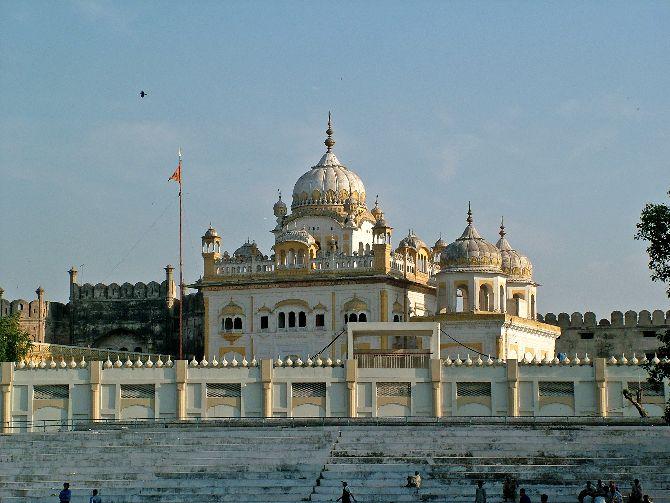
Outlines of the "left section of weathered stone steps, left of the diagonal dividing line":
[[308,501],[338,432],[170,428],[0,437],[0,502]]

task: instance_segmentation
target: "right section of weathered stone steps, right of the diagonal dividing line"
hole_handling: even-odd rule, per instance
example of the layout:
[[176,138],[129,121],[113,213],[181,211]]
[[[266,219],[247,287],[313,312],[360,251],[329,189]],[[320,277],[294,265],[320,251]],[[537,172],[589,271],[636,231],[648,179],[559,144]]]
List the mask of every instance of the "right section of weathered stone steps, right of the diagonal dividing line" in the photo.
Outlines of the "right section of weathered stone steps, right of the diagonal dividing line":
[[[419,471],[421,489],[402,487]],[[614,480],[624,495],[639,478],[656,503],[670,502],[670,428],[387,426],[341,428],[311,501],[332,501],[341,481],[361,502],[474,501],[485,482],[502,501],[512,475],[533,502],[576,503],[586,480]]]

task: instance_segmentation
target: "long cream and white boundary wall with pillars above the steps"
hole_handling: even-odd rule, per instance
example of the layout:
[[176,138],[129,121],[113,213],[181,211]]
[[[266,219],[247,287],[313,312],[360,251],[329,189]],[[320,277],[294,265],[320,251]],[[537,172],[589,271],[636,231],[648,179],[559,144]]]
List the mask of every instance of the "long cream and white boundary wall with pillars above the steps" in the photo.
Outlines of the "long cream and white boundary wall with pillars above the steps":
[[[577,359],[575,359],[577,360]],[[667,382],[650,390],[639,364],[615,358],[527,362],[433,359],[428,368],[359,368],[357,360],[242,364],[91,361],[46,368],[2,363],[4,433],[90,421],[230,417],[637,417],[641,386],[661,416]]]

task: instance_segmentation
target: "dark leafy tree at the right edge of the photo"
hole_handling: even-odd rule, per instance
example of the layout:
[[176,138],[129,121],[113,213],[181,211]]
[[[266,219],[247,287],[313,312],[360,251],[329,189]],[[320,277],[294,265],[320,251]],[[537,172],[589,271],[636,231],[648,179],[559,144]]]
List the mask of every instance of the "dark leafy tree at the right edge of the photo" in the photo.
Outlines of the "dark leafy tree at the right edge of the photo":
[[[670,191],[668,192],[670,196]],[[661,281],[668,285],[667,294],[670,297],[670,206],[666,204],[647,203],[636,225],[635,239],[646,241],[649,255],[649,269],[652,281]],[[649,380],[660,384],[663,379],[670,379],[670,330],[658,336],[661,347],[658,357],[661,362],[647,365]],[[665,408],[665,420],[670,424],[670,402]]]

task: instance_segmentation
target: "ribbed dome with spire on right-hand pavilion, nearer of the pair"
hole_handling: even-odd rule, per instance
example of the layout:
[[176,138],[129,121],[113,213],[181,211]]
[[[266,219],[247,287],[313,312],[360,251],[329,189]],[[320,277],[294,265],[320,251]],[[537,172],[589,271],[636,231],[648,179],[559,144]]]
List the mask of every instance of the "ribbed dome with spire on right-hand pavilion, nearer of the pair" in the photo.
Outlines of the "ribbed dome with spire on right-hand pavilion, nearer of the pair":
[[442,268],[447,270],[477,270],[502,272],[502,257],[495,245],[486,241],[473,225],[472,212],[468,208],[468,226],[453,243],[441,253]]

